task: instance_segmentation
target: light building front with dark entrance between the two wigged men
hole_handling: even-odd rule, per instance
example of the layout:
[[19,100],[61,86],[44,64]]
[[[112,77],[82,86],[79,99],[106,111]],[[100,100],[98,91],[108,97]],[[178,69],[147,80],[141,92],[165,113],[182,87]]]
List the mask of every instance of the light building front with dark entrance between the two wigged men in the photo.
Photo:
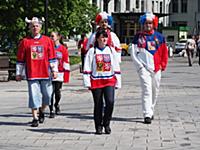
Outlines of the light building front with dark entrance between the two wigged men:
[[101,11],[113,16],[113,30],[122,43],[130,43],[141,29],[139,17],[153,12],[159,17],[161,26],[168,25],[170,0],[91,0]]

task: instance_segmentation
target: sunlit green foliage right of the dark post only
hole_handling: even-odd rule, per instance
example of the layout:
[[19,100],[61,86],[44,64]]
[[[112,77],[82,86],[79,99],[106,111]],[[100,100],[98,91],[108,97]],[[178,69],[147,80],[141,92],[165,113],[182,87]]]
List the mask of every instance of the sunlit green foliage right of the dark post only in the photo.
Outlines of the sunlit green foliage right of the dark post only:
[[97,7],[89,0],[55,0],[49,1],[49,31],[55,29],[61,34],[73,36],[88,33],[91,21],[97,13]]

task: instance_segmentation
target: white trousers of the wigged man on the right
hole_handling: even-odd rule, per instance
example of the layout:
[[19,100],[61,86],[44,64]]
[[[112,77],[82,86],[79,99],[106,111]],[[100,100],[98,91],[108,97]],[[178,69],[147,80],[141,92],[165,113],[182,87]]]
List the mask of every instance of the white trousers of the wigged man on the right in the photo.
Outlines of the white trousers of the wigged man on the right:
[[152,117],[160,87],[161,71],[150,72],[142,68],[138,72],[142,87],[142,109],[144,117]]

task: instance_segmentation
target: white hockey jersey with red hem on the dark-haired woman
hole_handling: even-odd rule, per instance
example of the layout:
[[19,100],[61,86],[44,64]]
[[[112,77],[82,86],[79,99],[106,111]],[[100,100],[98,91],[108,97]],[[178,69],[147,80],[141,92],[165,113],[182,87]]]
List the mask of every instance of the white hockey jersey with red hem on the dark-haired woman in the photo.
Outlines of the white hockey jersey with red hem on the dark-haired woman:
[[120,65],[114,48],[89,49],[85,57],[83,81],[84,86],[89,88],[121,87]]

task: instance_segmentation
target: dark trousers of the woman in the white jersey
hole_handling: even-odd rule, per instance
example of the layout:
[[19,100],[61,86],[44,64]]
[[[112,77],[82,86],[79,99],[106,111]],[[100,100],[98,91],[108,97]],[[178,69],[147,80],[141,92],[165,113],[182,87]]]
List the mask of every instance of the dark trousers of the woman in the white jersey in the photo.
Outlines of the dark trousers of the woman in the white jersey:
[[[93,89],[92,95],[94,99],[95,128],[97,129],[99,126],[109,126],[114,108],[115,87],[107,86]],[[103,98],[105,100],[105,108],[103,107]]]

